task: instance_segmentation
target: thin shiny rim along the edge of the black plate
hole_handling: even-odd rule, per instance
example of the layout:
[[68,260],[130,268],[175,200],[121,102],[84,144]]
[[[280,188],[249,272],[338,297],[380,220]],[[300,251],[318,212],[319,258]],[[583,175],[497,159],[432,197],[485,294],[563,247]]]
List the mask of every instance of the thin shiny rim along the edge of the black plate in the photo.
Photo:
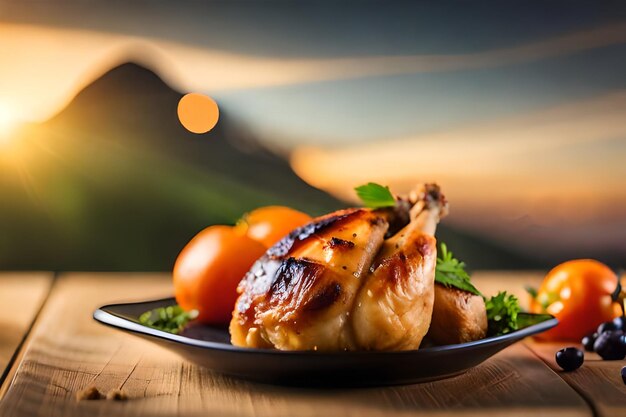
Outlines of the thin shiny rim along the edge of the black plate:
[[[157,339],[162,339],[168,342],[175,342],[187,346],[193,346],[198,348],[210,349],[210,350],[219,350],[224,352],[231,353],[241,353],[241,354],[262,354],[262,355],[280,355],[280,356],[309,356],[316,355],[318,357],[323,356],[342,356],[342,355],[350,355],[350,356],[380,356],[380,355],[415,355],[415,354],[429,354],[429,353],[441,353],[441,352],[454,352],[457,350],[466,350],[475,347],[481,347],[483,345],[492,345],[498,344],[502,341],[508,341],[510,339],[523,339],[528,336],[532,336],[537,333],[541,333],[543,331],[549,330],[558,324],[558,319],[550,314],[535,314],[535,313],[520,313],[529,316],[546,316],[550,317],[546,320],[530,325],[520,330],[516,330],[514,332],[510,332],[507,334],[486,337],[483,339],[474,340],[471,342],[465,343],[457,343],[453,345],[442,345],[442,346],[429,346],[421,349],[412,349],[412,350],[397,350],[397,351],[376,351],[376,350],[357,350],[357,351],[333,351],[333,352],[325,352],[325,351],[314,351],[314,350],[278,350],[278,349],[260,349],[260,348],[247,348],[234,346],[231,344],[220,343],[220,342],[212,342],[208,340],[199,340],[193,339],[186,336],[181,336],[177,334],[172,334],[165,332],[163,330],[154,329],[152,327],[144,326],[143,324],[131,321],[127,318],[116,315],[110,311],[112,308],[120,307],[120,306],[129,306],[129,305],[138,305],[138,304],[148,304],[148,303],[165,303],[167,301],[175,300],[173,297],[165,297],[154,300],[145,300],[145,301],[134,301],[134,302],[121,302],[121,303],[112,303],[105,304],[101,307],[98,307],[93,312],[93,319],[101,324],[104,324],[109,327],[114,327],[117,329],[129,331],[131,333],[137,333],[141,335],[146,335],[150,337],[154,337]],[[514,337],[512,337],[514,336]]]

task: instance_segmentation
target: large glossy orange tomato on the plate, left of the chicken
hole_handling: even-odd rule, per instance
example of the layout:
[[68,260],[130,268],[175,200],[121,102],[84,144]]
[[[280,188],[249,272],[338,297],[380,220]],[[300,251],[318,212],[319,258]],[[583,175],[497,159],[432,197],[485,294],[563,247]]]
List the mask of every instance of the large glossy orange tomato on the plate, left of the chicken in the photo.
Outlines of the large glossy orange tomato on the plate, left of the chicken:
[[198,320],[227,324],[237,299],[237,285],[265,246],[230,226],[210,226],[181,251],[174,265],[174,294]]

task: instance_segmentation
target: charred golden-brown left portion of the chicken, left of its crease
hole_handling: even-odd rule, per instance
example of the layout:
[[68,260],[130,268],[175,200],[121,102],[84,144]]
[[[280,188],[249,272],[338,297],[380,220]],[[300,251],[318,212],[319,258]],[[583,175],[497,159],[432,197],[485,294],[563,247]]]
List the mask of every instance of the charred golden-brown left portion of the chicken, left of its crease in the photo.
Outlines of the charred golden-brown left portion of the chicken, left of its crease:
[[239,285],[230,326],[233,344],[353,348],[346,323],[359,277],[384,240],[384,216],[368,209],[342,210],[295,230],[270,249]]

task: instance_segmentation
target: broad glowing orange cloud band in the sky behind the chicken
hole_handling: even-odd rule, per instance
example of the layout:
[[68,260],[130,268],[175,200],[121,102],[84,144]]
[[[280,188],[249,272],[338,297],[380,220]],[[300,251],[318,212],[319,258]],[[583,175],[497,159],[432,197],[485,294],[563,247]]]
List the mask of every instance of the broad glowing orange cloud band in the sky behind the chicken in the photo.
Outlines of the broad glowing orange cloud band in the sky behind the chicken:
[[353,188],[368,181],[400,192],[436,181],[454,202],[446,223],[474,233],[509,240],[514,233],[527,242],[541,236],[556,247],[570,230],[593,223],[606,228],[603,241],[619,245],[607,219],[619,218],[626,204],[623,142],[612,139],[626,134],[624,114],[626,92],[618,91],[414,137],[301,147],[291,163],[309,184],[355,202]]

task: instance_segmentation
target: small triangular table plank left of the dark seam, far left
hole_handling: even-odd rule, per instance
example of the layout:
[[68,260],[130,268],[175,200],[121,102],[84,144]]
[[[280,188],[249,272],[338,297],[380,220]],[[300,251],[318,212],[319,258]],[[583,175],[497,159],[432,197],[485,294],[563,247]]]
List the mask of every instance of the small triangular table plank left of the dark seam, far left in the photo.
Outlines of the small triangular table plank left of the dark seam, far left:
[[0,375],[4,375],[30,329],[48,295],[52,278],[53,275],[46,272],[0,274]]

